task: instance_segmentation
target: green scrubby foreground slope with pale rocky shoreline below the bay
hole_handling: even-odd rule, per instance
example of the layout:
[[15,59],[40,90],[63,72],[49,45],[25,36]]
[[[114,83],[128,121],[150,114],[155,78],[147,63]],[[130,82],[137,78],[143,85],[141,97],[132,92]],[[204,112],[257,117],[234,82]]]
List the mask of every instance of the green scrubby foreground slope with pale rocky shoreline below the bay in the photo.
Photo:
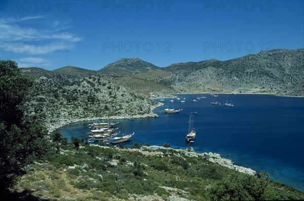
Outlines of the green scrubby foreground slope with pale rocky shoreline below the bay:
[[[135,143],[136,144],[136,143]],[[139,146],[139,145],[138,145]],[[39,200],[293,200],[304,193],[214,153],[82,144],[50,151],[15,187]],[[7,199],[13,200],[13,199]],[[31,199],[35,200],[35,199]]]

